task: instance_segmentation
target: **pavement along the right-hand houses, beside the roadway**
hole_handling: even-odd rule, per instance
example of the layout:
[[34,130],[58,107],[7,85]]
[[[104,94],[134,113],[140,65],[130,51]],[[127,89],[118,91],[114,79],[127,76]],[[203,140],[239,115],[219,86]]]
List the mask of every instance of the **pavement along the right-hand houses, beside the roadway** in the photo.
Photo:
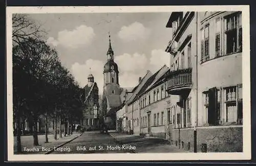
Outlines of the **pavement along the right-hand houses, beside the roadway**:
[[144,137],[141,135],[127,135],[111,131],[109,134],[121,145],[135,146],[136,153],[188,153],[170,145],[168,140],[158,137]]

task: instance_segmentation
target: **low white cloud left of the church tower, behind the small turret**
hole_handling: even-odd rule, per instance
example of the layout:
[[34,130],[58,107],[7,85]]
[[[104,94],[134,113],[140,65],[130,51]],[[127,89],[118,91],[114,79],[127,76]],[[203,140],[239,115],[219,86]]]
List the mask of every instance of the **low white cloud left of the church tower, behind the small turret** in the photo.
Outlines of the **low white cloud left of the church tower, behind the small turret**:
[[[99,60],[88,59],[84,64],[78,62],[71,66],[71,73],[76,78],[76,81],[81,87],[88,84],[88,75],[91,73],[94,77],[94,82],[97,83],[99,94],[103,92],[103,62]],[[91,67],[91,72],[90,72]]]

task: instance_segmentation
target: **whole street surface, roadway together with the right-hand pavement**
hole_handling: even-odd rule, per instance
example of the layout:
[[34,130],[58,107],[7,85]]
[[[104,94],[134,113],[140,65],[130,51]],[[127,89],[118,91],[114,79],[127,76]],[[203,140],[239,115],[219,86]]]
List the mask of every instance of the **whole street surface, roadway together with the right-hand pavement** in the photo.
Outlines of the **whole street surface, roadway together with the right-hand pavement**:
[[[62,148],[62,149],[61,149]],[[70,143],[55,149],[51,154],[87,153],[187,153],[171,146],[162,138],[144,138],[123,133],[84,132]]]

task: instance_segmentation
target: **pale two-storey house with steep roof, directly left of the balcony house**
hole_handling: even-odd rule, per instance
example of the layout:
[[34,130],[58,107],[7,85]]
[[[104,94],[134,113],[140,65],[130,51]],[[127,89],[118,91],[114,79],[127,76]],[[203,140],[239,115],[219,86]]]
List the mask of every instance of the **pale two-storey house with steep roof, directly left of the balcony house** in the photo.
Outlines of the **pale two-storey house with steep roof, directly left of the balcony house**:
[[153,76],[148,78],[141,92],[140,101],[140,134],[167,138],[167,102],[165,75],[169,68],[164,65]]

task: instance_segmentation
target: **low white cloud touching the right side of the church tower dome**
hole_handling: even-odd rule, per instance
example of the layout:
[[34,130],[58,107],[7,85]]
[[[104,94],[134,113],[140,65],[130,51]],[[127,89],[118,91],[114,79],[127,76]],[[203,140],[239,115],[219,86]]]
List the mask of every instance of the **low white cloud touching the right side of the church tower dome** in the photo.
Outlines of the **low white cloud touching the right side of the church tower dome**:
[[144,54],[135,53],[133,55],[124,53],[116,56],[115,62],[118,64],[121,72],[138,72],[144,70],[147,64],[147,58]]

